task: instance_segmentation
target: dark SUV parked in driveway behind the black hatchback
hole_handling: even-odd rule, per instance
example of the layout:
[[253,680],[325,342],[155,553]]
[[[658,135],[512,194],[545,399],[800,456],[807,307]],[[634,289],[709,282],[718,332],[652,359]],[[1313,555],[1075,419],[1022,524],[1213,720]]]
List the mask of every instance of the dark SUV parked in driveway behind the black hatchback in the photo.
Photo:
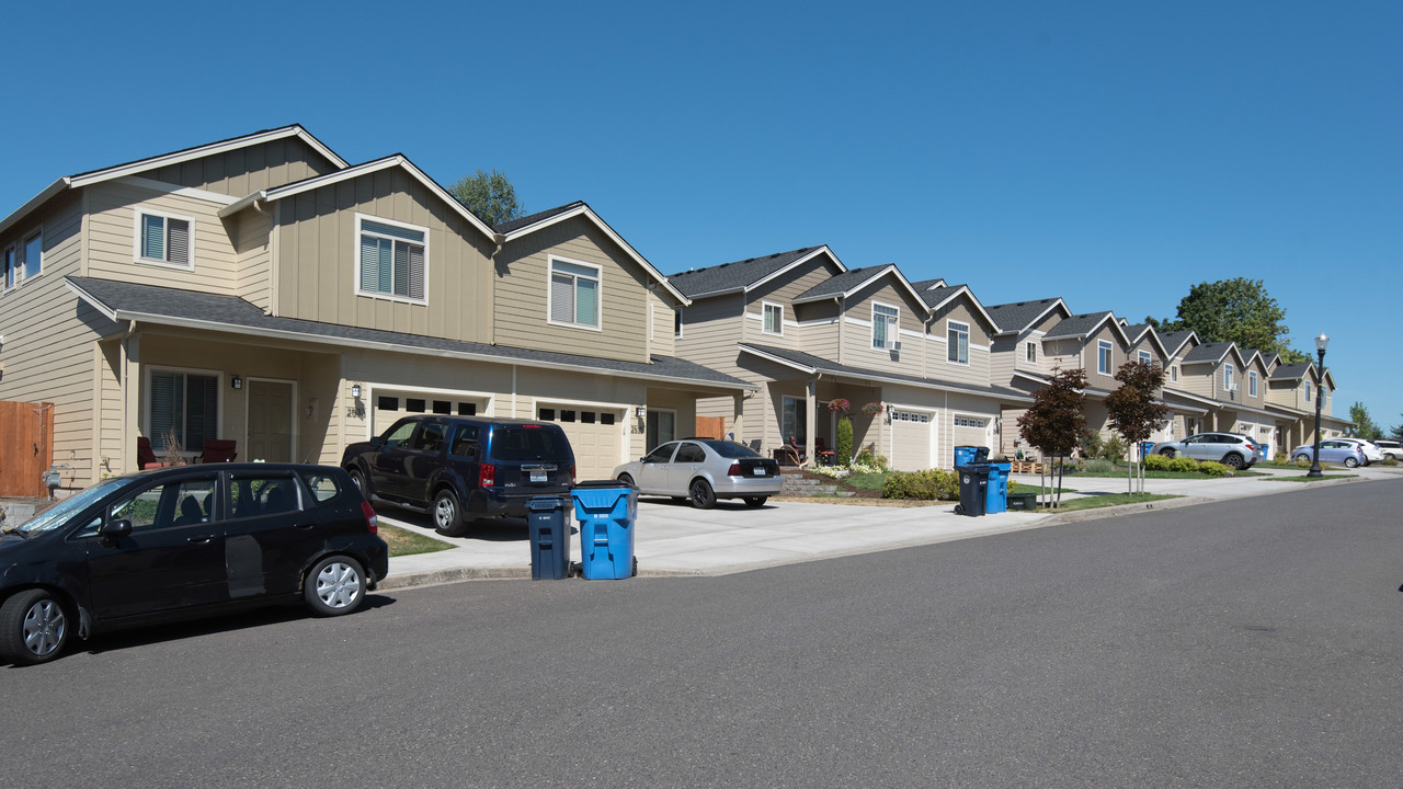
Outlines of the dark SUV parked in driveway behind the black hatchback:
[[366,498],[432,508],[448,536],[477,518],[525,518],[529,498],[568,494],[575,482],[560,425],[491,417],[405,417],[347,446],[341,466]]

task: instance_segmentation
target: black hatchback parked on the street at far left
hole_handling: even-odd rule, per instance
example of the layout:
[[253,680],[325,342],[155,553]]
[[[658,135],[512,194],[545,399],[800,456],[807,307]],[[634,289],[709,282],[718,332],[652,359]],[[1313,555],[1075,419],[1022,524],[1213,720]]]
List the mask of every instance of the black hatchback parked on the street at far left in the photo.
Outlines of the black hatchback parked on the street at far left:
[[112,477],[0,532],[0,658],[76,633],[302,599],[359,608],[389,571],[375,510],[341,469],[209,463]]

